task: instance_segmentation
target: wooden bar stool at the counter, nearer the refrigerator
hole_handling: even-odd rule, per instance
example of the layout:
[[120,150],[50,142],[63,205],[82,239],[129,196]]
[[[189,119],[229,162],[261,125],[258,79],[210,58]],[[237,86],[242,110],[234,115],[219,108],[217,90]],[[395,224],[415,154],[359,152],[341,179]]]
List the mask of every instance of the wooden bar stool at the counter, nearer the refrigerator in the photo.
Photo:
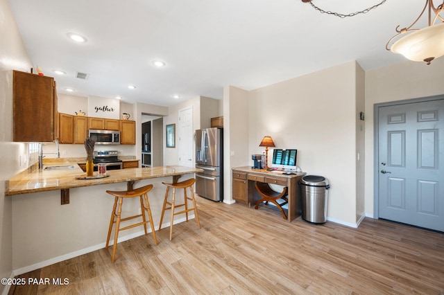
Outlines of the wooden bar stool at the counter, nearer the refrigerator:
[[[169,240],[170,241],[173,238],[174,215],[185,213],[185,216],[187,217],[187,222],[188,222],[189,211],[194,211],[194,215],[196,215],[197,225],[199,226],[199,229],[200,229],[199,215],[197,213],[197,207],[196,207],[196,199],[194,199],[194,192],[193,192],[193,184],[195,181],[196,181],[196,179],[191,178],[191,179],[187,179],[182,182],[178,182],[176,184],[167,184],[167,183],[162,182],[162,184],[167,186],[167,193],[165,193],[164,206],[162,208],[162,215],[160,216],[159,231],[160,231],[160,228],[162,227],[162,220],[164,219],[165,211],[171,209],[171,224],[169,226]],[[171,199],[171,202],[168,202],[169,188],[173,188],[173,199]],[[184,204],[176,205],[176,188],[183,188],[184,189],[184,201],[185,201]],[[189,190],[191,191],[191,197],[187,196],[187,188],[189,188]],[[193,202],[193,208],[188,207],[188,200]],[[169,207],[167,207],[167,204],[169,205]],[[176,208],[179,208],[182,206],[185,206],[185,210],[180,211],[180,212],[175,212]]]

